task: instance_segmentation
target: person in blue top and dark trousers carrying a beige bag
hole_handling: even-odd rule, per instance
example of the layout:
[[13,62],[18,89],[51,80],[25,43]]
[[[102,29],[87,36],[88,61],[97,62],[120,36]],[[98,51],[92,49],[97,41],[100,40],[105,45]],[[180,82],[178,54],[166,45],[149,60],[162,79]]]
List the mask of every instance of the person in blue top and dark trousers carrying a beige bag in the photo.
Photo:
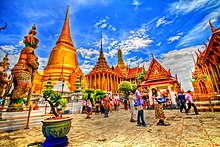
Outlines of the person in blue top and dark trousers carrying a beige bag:
[[137,86],[135,95],[136,95],[136,108],[138,110],[137,126],[141,126],[141,125],[146,126],[146,123],[144,121],[144,110],[143,110],[143,99],[142,99],[145,94],[141,93],[141,85]]

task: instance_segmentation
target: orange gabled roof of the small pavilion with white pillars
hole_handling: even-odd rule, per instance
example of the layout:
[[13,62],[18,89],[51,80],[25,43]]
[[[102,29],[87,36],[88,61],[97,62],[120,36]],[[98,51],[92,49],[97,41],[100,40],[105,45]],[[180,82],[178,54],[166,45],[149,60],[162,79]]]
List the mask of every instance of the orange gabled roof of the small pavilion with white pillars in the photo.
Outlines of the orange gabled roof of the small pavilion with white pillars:
[[170,74],[170,69],[166,71],[164,67],[152,57],[150,66],[146,75],[144,76],[144,82],[142,86],[159,85],[167,83],[177,83],[177,76],[172,77]]

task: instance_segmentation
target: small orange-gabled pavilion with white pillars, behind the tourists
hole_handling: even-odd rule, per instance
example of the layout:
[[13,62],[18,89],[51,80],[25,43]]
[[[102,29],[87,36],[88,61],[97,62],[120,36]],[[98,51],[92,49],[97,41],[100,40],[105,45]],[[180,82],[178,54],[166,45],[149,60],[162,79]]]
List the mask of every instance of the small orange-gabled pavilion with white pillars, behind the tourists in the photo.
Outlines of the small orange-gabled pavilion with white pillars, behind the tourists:
[[[180,91],[180,83],[178,82],[177,75],[175,75],[175,77],[171,76],[170,69],[168,71],[165,70],[153,55],[144,80],[141,86],[147,87],[149,90],[156,88],[158,91],[166,93],[168,98],[171,99],[172,104],[176,104],[175,94]],[[150,104],[152,105],[151,90],[149,93]]]

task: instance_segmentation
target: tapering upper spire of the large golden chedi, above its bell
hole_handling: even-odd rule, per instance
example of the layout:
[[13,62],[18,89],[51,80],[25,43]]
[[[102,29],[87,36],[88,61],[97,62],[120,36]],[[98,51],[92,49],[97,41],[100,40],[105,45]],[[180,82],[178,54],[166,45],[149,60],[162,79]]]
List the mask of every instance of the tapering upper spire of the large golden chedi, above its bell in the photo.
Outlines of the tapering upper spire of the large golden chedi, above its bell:
[[68,43],[69,45],[74,46],[73,42],[72,42],[71,35],[70,35],[69,6],[68,6],[67,11],[66,11],[66,18],[65,18],[65,21],[64,21],[64,24],[63,24],[63,29],[61,31],[60,37],[57,40],[56,44],[58,44],[60,42]]

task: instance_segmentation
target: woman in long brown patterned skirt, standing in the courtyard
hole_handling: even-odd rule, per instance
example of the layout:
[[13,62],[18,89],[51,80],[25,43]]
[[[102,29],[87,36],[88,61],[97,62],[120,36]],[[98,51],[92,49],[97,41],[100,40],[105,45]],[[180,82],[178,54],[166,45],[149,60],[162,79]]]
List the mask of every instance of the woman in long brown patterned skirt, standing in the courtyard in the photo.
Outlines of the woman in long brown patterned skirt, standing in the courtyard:
[[152,99],[154,102],[155,118],[159,119],[157,125],[168,126],[169,124],[164,123],[165,114],[163,110],[163,104],[159,101],[159,98],[161,98],[161,94],[160,92],[157,92],[155,88],[152,88],[151,91],[152,91]]

